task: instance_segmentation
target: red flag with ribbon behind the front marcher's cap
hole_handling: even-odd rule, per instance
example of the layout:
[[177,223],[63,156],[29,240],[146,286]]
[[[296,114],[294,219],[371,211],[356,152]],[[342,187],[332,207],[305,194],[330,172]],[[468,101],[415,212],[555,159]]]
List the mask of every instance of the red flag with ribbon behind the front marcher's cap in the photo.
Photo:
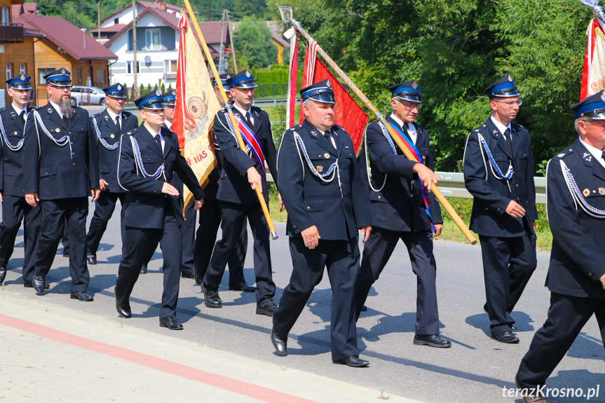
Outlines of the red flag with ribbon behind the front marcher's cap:
[[[306,48],[305,52],[305,67],[308,66],[309,60],[309,48]],[[303,69],[303,80],[302,88],[311,86],[318,81],[323,81],[329,78],[329,82],[332,84],[332,90],[334,90],[334,98],[336,99],[336,114],[334,116],[334,123],[344,128],[348,135],[353,140],[353,147],[355,148],[355,154],[358,153],[363,138],[363,132],[367,121],[369,120],[367,114],[361,109],[361,107],[353,100],[353,97],[349,95],[348,91],[340,84],[336,77],[328,71],[322,62],[315,57],[315,68],[313,69],[313,76],[311,80],[308,79],[310,69]],[[300,123],[304,121],[304,115],[301,108]]]

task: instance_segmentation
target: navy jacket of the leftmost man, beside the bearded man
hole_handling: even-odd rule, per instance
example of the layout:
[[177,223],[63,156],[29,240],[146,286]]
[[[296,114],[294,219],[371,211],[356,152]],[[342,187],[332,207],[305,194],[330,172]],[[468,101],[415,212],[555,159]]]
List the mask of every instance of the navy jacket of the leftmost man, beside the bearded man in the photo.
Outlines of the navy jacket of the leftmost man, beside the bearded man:
[[[29,111],[31,112],[32,109]],[[8,142],[11,146],[17,146],[23,139],[23,121],[12,104],[0,109],[0,117]],[[23,147],[18,151],[13,151],[8,148],[5,141],[4,137],[0,139],[0,193],[25,197],[22,169]]]

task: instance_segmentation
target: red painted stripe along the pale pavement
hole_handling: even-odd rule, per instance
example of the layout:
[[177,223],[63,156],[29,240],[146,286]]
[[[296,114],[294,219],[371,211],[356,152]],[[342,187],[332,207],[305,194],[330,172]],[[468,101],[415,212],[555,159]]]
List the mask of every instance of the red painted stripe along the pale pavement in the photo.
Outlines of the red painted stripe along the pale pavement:
[[182,378],[191,379],[206,385],[214,386],[215,388],[221,388],[223,390],[229,390],[229,392],[235,392],[240,395],[252,397],[253,399],[261,400],[267,403],[315,403],[312,400],[303,399],[294,395],[288,395],[287,393],[278,392],[269,388],[254,385],[237,379],[228,378],[227,376],[221,376],[212,374],[208,371],[202,371],[193,367],[188,367],[183,364],[177,364],[176,362],[163,360],[162,358],[154,357],[153,355],[138,353],[137,351],[128,350],[127,348],[121,348],[113,346],[108,343],[102,343],[86,337],[76,336],[75,334],[62,332],[52,327],[46,327],[38,325],[27,320],[20,320],[16,317],[0,314],[0,325],[13,327],[23,332],[37,334],[45,339],[58,341],[60,343],[68,344],[69,346],[83,348],[85,350],[94,351],[95,353],[101,353],[109,355],[121,360],[133,362],[135,364],[143,365],[156,369],[158,371],[165,372]]

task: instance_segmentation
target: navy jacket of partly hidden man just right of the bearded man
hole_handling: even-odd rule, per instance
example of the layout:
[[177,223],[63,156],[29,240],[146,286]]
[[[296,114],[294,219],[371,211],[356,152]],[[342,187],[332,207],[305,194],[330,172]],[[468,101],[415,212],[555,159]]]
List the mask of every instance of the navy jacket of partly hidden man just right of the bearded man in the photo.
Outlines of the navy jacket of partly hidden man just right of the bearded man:
[[[99,132],[95,130],[93,121],[97,122]],[[90,116],[90,125],[94,130],[94,135],[97,138],[97,152],[99,153],[99,174],[100,179],[105,179],[108,184],[105,185],[106,191],[109,193],[123,193],[124,189],[118,184],[118,157],[120,151],[107,149],[101,142],[101,137],[107,144],[114,145],[120,142],[121,132],[118,131],[116,122],[111,120],[107,108],[93,116]],[[137,117],[127,111],[122,111],[122,132],[135,130],[139,126]]]

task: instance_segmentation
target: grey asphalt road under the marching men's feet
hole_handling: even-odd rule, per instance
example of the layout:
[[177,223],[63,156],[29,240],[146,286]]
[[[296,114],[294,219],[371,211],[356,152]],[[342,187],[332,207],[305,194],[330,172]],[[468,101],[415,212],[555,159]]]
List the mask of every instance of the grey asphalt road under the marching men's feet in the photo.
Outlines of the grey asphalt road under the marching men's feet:
[[[116,209],[117,210],[117,209]],[[90,205],[90,215],[93,205]],[[8,266],[4,292],[78,310],[82,315],[98,315],[123,321],[124,326],[147,329],[178,339],[203,343],[284,367],[309,371],[321,376],[363,385],[376,390],[376,397],[389,394],[423,402],[517,402],[520,397],[504,397],[503,387],[512,388],[519,362],[529,347],[533,333],[543,324],[549,303],[548,289],[543,287],[548,267],[547,253],[538,253],[538,269],[512,314],[519,327],[521,342],[505,345],[489,338],[489,321],[484,313],[484,286],[481,251],[471,246],[444,241],[435,242],[437,288],[442,335],[452,348],[437,349],[414,346],[416,279],[402,244],[397,246],[382,277],[370,292],[367,306],[358,322],[360,355],[370,361],[365,369],[334,365],[329,354],[329,310],[331,290],[327,276],[311,295],[306,309],[292,329],[287,357],[274,353],[269,340],[271,318],[254,314],[254,294],[230,292],[224,276],[220,296],[224,307],[204,306],[203,294],[193,280],[182,279],[178,306],[184,331],[170,332],[158,327],[161,300],[161,252],[156,251],[149,273],[140,276],[132,294],[132,319],[121,320],[114,308],[114,285],[121,259],[119,212],[109,227],[97,253],[98,264],[90,266],[90,303],[69,299],[69,262],[60,247],[53,269],[47,276],[50,290],[43,296],[22,287],[20,268],[23,262],[22,231],[13,259]],[[89,216],[90,219],[90,216]],[[271,241],[273,279],[278,286],[276,301],[287,285],[292,264],[287,250],[285,225],[276,223],[280,238]],[[251,238],[251,235],[250,235]],[[245,264],[247,281],[254,281],[252,243]],[[0,303],[0,311],[1,303]],[[605,401],[605,351],[594,318],[587,323],[569,353],[548,381],[550,388],[597,388]],[[552,402],[585,402],[586,399],[549,399]]]

